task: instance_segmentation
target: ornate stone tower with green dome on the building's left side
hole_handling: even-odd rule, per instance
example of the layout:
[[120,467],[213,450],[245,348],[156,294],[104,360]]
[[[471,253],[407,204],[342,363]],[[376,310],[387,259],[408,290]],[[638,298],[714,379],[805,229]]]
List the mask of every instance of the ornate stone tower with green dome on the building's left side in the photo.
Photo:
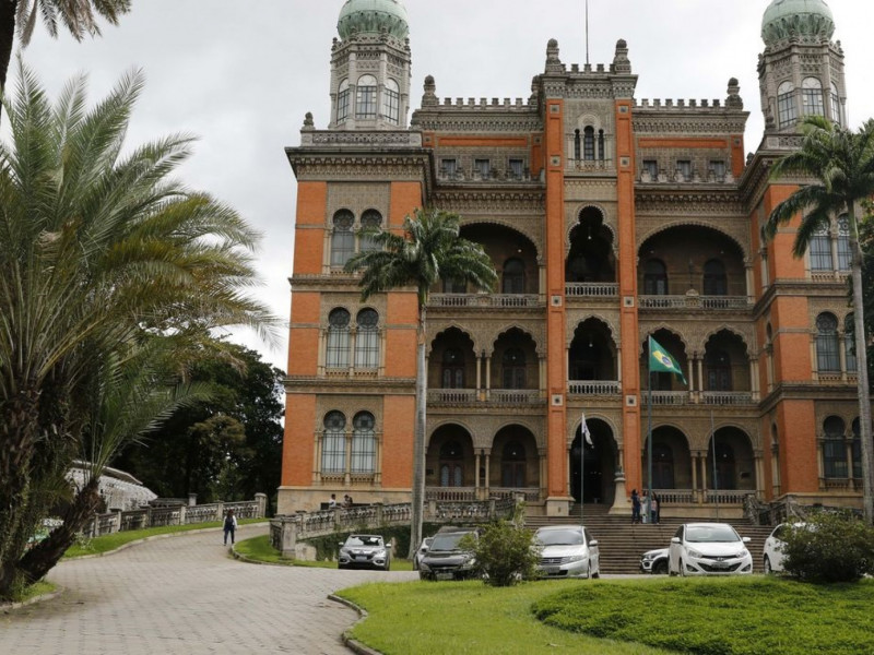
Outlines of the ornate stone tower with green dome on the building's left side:
[[347,0],[331,49],[332,130],[397,130],[410,112],[410,27],[399,0]]

